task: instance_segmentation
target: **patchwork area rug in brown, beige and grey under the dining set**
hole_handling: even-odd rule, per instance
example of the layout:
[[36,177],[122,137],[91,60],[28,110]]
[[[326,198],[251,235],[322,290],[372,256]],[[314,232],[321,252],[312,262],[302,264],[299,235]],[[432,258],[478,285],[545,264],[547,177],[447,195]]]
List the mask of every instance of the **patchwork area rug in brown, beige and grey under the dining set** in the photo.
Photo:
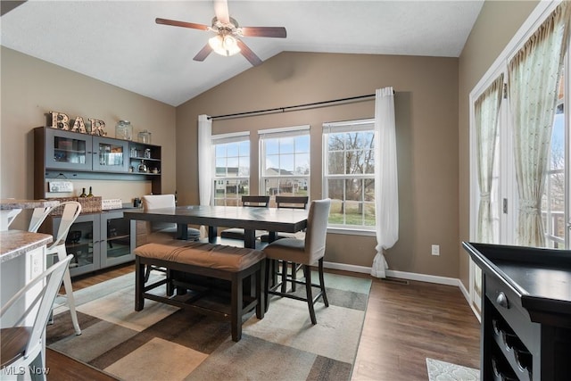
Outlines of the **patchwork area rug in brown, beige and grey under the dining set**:
[[135,311],[131,273],[74,293],[82,335],[67,308],[55,308],[46,344],[123,380],[348,380],[371,282],[336,274],[325,282],[329,307],[316,303],[316,326],[306,303],[274,296],[235,343],[222,319],[149,300]]

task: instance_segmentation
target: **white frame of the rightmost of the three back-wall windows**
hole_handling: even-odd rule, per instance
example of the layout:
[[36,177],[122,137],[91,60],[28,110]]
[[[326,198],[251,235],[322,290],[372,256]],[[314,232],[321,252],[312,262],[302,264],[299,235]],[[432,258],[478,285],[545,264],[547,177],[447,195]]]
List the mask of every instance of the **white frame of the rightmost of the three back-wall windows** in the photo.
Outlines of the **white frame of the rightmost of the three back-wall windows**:
[[[328,174],[329,169],[329,149],[328,149],[328,136],[332,133],[343,133],[343,132],[352,132],[352,131],[370,131],[375,134],[375,119],[368,118],[368,119],[360,119],[360,120],[345,120],[345,121],[336,121],[336,122],[327,122],[323,123],[323,132],[322,132],[322,189],[323,189],[323,197],[329,197],[329,186],[328,180],[332,178],[370,178],[375,181],[375,171],[372,173],[363,173],[357,175],[347,175],[347,174]],[[373,137],[374,141],[374,137]],[[378,147],[374,147],[374,150]],[[375,154],[373,153],[373,157]],[[375,169],[377,169],[375,167]],[[344,193],[344,190],[343,190]],[[373,199],[370,202],[365,202],[364,198],[362,203],[370,204],[375,210],[375,200]],[[358,236],[376,236],[377,235],[377,228],[376,224],[373,225],[346,225],[346,224],[330,224],[327,222],[327,232],[328,233],[338,233],[338,234],[349,234],[349,235],[358,235]]]

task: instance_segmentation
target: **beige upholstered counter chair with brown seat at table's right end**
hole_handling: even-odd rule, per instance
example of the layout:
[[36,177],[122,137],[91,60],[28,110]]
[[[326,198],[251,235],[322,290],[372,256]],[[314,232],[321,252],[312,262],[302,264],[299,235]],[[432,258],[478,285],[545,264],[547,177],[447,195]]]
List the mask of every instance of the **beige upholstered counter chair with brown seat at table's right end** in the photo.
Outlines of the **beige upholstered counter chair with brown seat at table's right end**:
[[[316,200],[310,203],[310,211],[307,218],[307,229],[305,238],[282,238],[268,244],[262,252],[266,254],[267,261],[285,261],[302,264],[304,279],[294,279],[287,274],[287,266],[282,266],[281,282],[269,286],[270,263],[266,266],[265,290],[266,308],[269,306],[269,294],[279,295],[303,302],[307,302],[310,310],[311,324],[317,324],[314,304],[321,297],[325,306],[329,306],[323,277],[323,256],[325,255],[325,245],[327,238],[327,219],[331,209],[331,199]],[[319,285],[311,283],[310,266],[318,262]],[[305,285],[305,298],[282,290],[283,283],[290,282]],[[311,287],[319,287],[319,294],[313,296]]]

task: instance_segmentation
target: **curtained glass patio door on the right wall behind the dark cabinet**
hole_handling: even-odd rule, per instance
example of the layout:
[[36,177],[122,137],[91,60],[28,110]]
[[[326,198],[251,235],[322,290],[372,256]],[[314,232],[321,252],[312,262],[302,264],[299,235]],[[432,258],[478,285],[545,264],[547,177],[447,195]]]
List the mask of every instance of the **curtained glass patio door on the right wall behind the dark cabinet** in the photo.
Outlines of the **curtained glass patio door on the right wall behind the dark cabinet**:
[[[530,37],[470,94],[470,240],[571,247],[567,5],[546,12]],[[494,130],[489,95],[501,73],[505,89]],[[469,282],[479,314],[481,274],[474,263]]]

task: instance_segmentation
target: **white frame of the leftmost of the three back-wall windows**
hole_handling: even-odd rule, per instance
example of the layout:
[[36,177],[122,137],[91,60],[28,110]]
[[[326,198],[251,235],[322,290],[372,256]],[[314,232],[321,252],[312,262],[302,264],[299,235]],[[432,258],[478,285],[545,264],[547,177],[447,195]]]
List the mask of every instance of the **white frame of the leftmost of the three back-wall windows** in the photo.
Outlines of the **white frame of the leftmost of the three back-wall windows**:
[[[225,145],[225,144],[232,144],[232,143],[240,144],[242,142],[248,143],[248,149],[247,149],[248,175],[247,176],[239,176],[239,173],[238,173],[238,174],[236,174],[236,176],[228,176],[228,153],[227,153],[227,155],[225,156],[225,158],[227,159],[227,166],[224,167],[227,169],[226,176],[217,176],[218,172],[216,170],[217,169],[216,145]],[[239,192],[236,192],[236,197],[228,198],[226,196],[228,194],[225,191],[224,197],[217,197],[217,185],[218,185],[219,181],[223,181],[223,182],[226,182],[228,180],[246,181],[248,184],[248,192],[245,193],[244,195],[250,195],[250,186],[252,184],[252,181],[250,179],[251,174],[252,174],[252,155],[251,155],[251,148],[252,147],[251,147],[251,145],[252,145],[252,143],[250,141],[250,131],[212,135],[212,137],[211,137],[211,147],[212,147],[212,153],[211,153],[211,163],[212,163],[211,164],[212,165],[211,197],[212,197],[212,203],[214,205],[219,205],[219,203],[217,203],[217,202],[219,202],[220,200],[223,200],[223,204],[226,206],[228,206],[228,200],[236,200],[236,205],[239,205],[240,201],[241,201],[241,197],[243,195],[243,194],[240,194]],[[230,157],[234,157],[234,156],[230,156]],[[238,150],[238,156],[236,156],[236,158],[238,158],[238,162],[239,162],[239,158],[241,158],[241,157],[246,157],[246,155],[240,154],[240,151]]]

